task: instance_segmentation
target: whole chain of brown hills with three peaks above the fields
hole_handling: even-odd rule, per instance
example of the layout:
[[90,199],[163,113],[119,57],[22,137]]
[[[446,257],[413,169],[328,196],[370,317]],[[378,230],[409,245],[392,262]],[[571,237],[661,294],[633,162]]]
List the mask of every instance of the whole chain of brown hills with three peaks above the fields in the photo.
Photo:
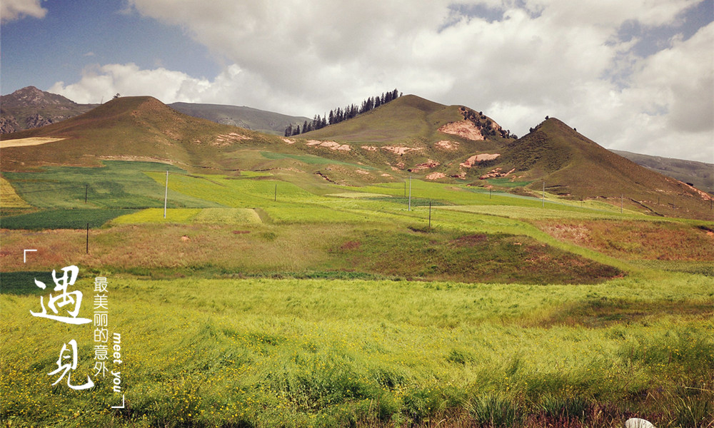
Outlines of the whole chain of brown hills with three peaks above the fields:
[[[19,146],[24,138],[62,138]],[[161,161],[194,172],[271,170],[299,185],[424,180],[598,199],[652,215],[710,218],[710,195],[605,150],[555,118],[515,139],[465,106],[403,96],[356,118],[283,138],[122,97],[66,121],[1,136],[1,170]],[[36,140],[32,140],[36,141]]]

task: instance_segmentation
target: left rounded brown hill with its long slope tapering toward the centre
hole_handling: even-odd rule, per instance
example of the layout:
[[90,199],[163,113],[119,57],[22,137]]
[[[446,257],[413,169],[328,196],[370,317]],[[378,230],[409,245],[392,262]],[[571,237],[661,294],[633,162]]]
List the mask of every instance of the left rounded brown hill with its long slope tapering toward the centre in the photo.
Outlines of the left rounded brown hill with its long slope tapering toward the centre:
[[146,96],[116,98],[81,116],[0,139],[4,172],[117,160],[171,163],[192,173],[271,170],[305,186],[398,179],[388,166],[368,165],[359,149],[221,125]]

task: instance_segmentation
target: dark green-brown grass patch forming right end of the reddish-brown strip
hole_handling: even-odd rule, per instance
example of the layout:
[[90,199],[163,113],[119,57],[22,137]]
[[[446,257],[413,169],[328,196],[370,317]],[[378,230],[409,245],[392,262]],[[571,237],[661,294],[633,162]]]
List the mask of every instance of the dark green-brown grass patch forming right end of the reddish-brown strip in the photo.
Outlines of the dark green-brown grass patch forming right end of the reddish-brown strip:
[[409,278],[583,284],[621,274],[526,236],[368,230],[331,252],[343,256],[342,269]]

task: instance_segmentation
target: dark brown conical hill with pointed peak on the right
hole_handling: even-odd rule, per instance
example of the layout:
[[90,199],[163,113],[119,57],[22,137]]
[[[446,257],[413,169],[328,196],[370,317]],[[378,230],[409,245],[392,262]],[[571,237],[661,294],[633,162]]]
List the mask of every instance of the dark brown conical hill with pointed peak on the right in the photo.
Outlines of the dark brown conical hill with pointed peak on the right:
[[[705,213],[706,193],[618,156],[555,118],[509,143],[494,168],[565,198],[603,199],[655,215]],[[620,200],[622,199],[622,200]]]

